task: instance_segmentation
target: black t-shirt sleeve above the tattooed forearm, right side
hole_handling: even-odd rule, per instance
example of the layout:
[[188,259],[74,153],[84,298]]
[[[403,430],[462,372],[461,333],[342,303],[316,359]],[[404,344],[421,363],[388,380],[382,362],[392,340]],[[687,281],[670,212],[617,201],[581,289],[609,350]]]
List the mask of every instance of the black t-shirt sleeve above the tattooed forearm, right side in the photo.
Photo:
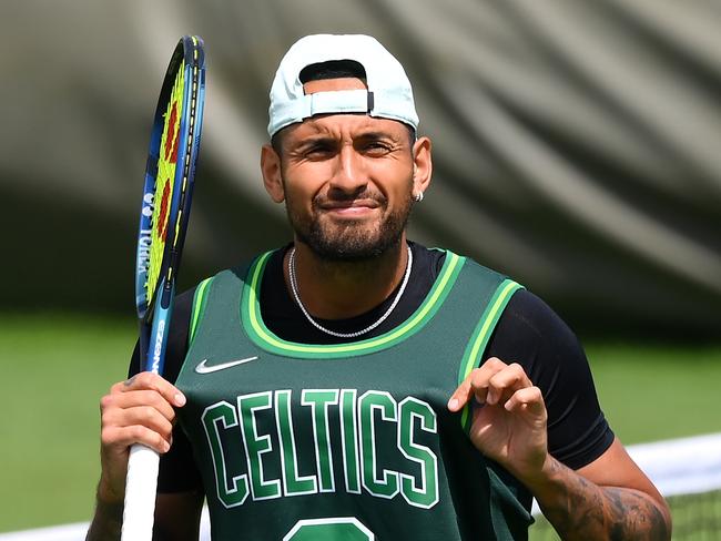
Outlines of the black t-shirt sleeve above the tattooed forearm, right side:
[[488,357],[520,364],[540,388],[548,410],[548,448],[572,469],[600,457],[612,443],[586,354],[563,320],[521,289],[511,297],[491,336]]

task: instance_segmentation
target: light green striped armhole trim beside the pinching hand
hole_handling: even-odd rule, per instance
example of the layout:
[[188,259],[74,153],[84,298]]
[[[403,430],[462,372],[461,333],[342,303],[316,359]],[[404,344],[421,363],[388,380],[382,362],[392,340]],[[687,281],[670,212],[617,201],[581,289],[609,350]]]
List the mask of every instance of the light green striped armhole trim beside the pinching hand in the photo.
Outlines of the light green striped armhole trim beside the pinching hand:
[[[488,303],[484,315],[481,316],[474,335],[468,341],[468,347],[460,361],[460,369],[458,370],[458,385],[460,385],[474,368],[478,368],[483,360],[483,353],[486,350],[490,335],[496,328],[496,324],[504,313],[506,305],[518,289],[524,289],[524,286],[514,282],[512,279],[505,279],[496,289],[492,298]],[[466,406],[460,416],[460,423],[466,433],[470,430],[470,408]]]

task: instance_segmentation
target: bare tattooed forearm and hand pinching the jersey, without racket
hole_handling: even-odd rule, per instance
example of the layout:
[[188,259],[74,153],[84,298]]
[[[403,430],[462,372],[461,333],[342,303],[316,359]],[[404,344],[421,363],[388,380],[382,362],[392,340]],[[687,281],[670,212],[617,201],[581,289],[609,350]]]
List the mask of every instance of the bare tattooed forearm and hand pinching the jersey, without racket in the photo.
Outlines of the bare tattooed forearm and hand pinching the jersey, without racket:
[[489,359],[474,370],[448,402],[476,408],[474,445],[528,487],[565,540],[653,540],[671,538],[663,498],[621,443],[573,471],[548,453],[547,412],[540,389],[519,365]]

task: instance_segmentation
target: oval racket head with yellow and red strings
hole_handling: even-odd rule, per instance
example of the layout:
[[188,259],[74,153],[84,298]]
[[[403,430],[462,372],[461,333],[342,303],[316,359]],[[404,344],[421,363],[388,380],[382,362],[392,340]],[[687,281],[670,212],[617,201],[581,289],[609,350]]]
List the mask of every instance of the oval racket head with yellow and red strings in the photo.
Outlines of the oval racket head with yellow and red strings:
[[180,265],[205,96],[203,40],[184,35],[171,57],[153,116],[135,264],[135,307],[148,324]]

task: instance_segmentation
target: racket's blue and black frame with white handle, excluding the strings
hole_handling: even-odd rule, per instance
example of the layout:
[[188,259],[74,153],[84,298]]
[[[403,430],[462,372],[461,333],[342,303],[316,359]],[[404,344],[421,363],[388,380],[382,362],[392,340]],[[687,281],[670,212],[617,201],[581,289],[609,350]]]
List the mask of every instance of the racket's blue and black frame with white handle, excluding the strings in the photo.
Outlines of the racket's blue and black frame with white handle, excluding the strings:
[[[162,151],[164,114],[181,65],[184,70],[184,82],[175,176],[159,279],[149,298],[146,284],[153,204],[160,204],[160,202],[153,201],[159,173],[158,161]],[[175,278],[185,241],[195,165],[200,151],[204,98],[203,41],[196,35],[184,35],[171,57],[153,118],[135,256],[135,306],[140,321],[140,361],[141,365],[144,363],[145,370],[154,374],[162,374],[167,347],[167,330],[175,296]],[[154,450],[138,443],[131,447],[125,480],[122,541],[152,540],[159,463],[160,456]]]

